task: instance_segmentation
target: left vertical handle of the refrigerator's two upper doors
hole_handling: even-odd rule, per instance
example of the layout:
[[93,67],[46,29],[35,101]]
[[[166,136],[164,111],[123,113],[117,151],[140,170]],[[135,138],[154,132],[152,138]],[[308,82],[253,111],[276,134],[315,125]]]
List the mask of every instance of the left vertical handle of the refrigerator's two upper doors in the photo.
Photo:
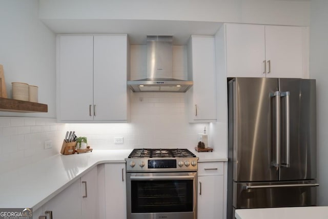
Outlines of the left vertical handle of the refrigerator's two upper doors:
[[276,91],[271,96],[276,98],[276,162],[272,165],[276,168],[280,167],[280,92]]

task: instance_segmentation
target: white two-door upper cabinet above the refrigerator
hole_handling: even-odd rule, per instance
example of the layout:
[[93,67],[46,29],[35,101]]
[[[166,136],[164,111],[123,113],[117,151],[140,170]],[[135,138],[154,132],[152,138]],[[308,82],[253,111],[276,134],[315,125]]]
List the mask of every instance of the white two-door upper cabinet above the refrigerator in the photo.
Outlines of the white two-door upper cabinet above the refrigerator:
[[227,77],[308,77],[305,27],[225,24]]

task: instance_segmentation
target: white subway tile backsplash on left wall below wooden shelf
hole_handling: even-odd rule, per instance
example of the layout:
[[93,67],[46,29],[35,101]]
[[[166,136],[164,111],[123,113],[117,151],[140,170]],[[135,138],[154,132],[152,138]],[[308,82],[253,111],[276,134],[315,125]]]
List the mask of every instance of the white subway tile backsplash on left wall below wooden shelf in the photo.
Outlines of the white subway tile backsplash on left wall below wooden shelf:
[[[51,118],[0,117],[0,172],[57,154],[64,127]],[[49,140],[53,148],[45,150]]]

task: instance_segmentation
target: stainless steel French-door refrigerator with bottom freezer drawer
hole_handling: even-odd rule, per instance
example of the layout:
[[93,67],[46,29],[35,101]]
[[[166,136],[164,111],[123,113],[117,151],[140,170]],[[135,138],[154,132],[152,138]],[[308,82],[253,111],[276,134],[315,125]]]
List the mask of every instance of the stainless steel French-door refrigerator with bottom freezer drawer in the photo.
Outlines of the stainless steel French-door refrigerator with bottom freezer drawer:
[[228,82],[228,204],[235,209],[316,205],[316,82]]

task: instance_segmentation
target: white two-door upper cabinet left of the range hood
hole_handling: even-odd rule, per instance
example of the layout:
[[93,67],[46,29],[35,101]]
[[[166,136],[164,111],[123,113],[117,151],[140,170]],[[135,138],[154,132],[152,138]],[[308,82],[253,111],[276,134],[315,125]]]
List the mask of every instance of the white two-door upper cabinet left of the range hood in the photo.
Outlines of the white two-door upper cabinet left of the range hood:
[[126,34],[60,35],[57,60],[59,122],[129,120]]

